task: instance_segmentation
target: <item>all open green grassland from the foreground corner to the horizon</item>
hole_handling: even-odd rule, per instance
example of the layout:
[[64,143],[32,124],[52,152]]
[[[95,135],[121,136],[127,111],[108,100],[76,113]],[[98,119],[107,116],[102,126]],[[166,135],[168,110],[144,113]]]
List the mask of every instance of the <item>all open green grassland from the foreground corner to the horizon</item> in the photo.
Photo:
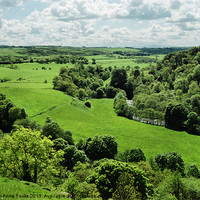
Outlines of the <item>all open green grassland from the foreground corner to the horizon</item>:
[[[109,67],[116,69],[135,68],[137,66],[141,70],[155,65],[167,53],[186,48],[134,49],[40,46],[30,48],[33,48],[34,51],[29,51],[28,48],[24,47],[0,48],[2,60],[21,60],[19,63],[6,63],[4,60],[0,64],[0,93],[6,95],[6,98],[11,99],[18,107],[24,108],[28,119],[43,126],[46,118],[50,117],[62,129],[72,132],[75,144],[80,139],[93,138],[96,135],[111,135],[118,143],[118,153],[123,153],[127,149],[140,148],[147,161],[150,161],[158,154],[177,152],[184,160],[186,168],[191,164],[200,167],[199,136],[188,134],[186,131],[175,131],[163,126],[149,125],[118,116],[113,107],[114,98],[91,98],[89,99],[91,108],[88,108],[84,101],[53,88],[53,79],[58,76],[61,67],[72,68],[76,66],[76,63],[38,62],[38,60],[48,60],[63,55],[75,55],[83,56],[88,60],[84,66],[94,65],[92,62],[95,60],[95,65],[104,69]],[[150,51],[151,53],[149,53]],[[109,84],[110,80],[110,78],[105,80],[103,84]],[[9,185],[8,194],[13,194],[13,187],[21,188],[19,189],[21,194],[26,193],[24,190],[29,190],[24,188],[25,183],[17,182],[17,180],[11,183],[7,178],[0,178],[0,185],[4,187],[4,191]],[[28,183],[28,185],[30,184]],[[34,190],[29,191],[29,193],[42,194],[43,199],[48,199],[48,195],[54,195],[54,197],[56,195],[48,192],[43,193],[41,188],[37,190],[37,186],[32,186],[32,188]],[[4,194],[5,192],[1,193],[0,190],[0,196]]]

